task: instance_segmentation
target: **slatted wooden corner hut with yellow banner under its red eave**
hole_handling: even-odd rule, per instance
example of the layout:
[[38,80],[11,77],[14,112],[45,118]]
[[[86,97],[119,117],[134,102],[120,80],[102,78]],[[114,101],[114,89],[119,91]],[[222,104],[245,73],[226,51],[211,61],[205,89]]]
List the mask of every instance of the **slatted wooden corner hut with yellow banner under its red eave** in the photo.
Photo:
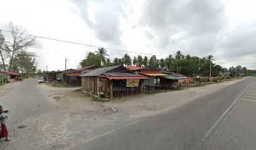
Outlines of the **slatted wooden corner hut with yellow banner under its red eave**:
[[107,99],[145,93],[144,79],[149,79],[121,65],[97,68],[81,77],[84,91]]

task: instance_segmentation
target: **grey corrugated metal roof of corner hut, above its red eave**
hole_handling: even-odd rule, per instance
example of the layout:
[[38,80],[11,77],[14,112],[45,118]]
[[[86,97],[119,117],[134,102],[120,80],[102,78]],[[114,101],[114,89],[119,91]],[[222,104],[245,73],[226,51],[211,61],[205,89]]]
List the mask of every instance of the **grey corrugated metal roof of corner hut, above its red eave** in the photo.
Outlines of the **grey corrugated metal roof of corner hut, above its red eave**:
[[105,68],[97,68],[97,69],[94,69],[88,73],[85,73],[85,74],[82,74],[81,76],[99,76],[100,74],[104,74],[104,73],[107,73],[108,71],[112,71],[116,68],[119,68],[119,67],[122,67],[124,68],[124,71],[126,70],[128,73],[132,71],[129,71],[129,69],[125,68],[124,66],[122,65],[119,65],[119,66],[110,66],[110,67],[105,67]]

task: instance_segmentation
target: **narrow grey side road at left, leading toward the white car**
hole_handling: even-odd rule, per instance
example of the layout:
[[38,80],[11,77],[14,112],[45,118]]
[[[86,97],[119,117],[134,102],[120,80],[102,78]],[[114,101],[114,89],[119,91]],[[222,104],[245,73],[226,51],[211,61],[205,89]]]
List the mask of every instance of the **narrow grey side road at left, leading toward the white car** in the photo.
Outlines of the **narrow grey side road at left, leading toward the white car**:
[[41,90],[36,79],[6,84],[4,89],[5,91],[0,91],[0,105],[9,110],[9,127],[18,126],[19,121],[28,116],[42,114],[55,108],[48,101],[48,96]]

